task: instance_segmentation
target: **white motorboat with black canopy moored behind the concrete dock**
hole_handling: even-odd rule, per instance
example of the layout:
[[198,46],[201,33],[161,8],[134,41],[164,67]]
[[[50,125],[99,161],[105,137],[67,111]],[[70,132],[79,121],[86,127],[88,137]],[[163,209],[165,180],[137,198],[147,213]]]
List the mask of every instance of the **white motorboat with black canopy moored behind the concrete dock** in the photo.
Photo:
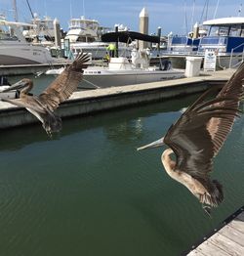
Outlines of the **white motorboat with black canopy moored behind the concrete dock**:
[[[160,43],[159,36],[150,36],[135,31],[118,31],[102,35],[103,42],[118,42],[130,44],[135,40],[150,43]],[[117,49],[118,50],[118,49]],[[130,84],[142,84],[162,80],[176,79],[184,76],[183,70],[172,69],[167,61],[159,66],[150,66],[150,51],[140,50],[134,47],[131,58],[110,58],[107,67],[91,66],[84,70],[84,79],[81,88],[104,88],[124,86]]]

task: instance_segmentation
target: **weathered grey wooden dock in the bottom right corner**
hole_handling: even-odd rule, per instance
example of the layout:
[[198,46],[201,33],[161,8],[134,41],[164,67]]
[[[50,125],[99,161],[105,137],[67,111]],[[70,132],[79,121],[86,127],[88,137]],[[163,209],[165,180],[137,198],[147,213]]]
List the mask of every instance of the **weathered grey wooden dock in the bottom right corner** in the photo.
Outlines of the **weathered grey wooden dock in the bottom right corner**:
[[188,256],[243,256],[244,255],[244,206],[228,217],[202,243],[192,246]]

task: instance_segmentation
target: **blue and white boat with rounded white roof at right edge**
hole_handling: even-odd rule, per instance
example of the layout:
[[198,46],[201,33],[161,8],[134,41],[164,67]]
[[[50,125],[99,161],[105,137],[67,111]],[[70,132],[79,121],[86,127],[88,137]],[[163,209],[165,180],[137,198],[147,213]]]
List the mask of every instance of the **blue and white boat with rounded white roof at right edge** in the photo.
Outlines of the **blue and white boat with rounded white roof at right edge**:
[[243,17],[203,21],[200,27],[204,34],[198,38],[172,37],[164,56],[173,67],[184,68],[186,57],[202,57],[204,62],[206,52],[211,51],[216,56],[217,69],[234,67],[244,59],[243,25]]

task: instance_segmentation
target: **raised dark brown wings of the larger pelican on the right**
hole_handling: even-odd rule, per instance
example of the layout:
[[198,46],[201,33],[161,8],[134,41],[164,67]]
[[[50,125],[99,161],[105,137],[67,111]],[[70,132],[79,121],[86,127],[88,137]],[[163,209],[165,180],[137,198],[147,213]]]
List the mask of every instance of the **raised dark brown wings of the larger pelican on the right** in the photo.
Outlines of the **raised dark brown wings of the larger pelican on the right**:
[[222,149],[234,118],[239,115],[243,78],[244,64],[214,100],[209,100],[215,90],[210,89],[170,127],[164,142],[177,155],[177,169],[207,181],[213,168],[213,158]]

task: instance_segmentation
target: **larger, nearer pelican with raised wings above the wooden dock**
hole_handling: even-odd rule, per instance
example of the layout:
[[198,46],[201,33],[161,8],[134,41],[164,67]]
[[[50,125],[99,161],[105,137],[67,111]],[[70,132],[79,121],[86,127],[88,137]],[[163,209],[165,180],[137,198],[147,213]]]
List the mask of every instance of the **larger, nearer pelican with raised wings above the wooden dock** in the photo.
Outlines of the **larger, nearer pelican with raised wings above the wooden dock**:
[[170,149],[164,150],[161,156],[165,171],[192,192],[208,214],[211,207],[224,199],[222,185],[211,180],[210,172],[213,158],[223,147],[234,118],[239,116],[243,78],[244,64],[241,64],[215,99],[211,100],[210,96],[217,88],[211,88],[184,111],[165,137],[138,149],[167,145]]

